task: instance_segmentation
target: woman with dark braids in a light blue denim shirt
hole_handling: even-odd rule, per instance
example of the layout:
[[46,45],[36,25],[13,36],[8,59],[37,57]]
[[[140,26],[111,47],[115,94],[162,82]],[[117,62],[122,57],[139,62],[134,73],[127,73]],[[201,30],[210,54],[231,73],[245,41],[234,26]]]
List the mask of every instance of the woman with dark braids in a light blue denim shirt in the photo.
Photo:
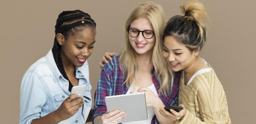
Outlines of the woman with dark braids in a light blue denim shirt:
[[[24,74],[20,86],[20,124],[84,124],[90,112],[88,57],[93,53],[96,23],[80,10],[63,11],[46,56]],[[73,86],[87,85],[84,97]]]

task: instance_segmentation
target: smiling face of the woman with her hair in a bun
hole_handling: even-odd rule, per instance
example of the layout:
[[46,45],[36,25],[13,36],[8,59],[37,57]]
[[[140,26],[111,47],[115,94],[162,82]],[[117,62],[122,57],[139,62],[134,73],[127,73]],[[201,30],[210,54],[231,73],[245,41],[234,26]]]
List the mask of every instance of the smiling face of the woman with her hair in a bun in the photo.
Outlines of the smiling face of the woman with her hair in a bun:
[[163,56],[169,61],[173,71],[186,70],[198,56],[198,51],[190,51],[173,36],[164,37]]

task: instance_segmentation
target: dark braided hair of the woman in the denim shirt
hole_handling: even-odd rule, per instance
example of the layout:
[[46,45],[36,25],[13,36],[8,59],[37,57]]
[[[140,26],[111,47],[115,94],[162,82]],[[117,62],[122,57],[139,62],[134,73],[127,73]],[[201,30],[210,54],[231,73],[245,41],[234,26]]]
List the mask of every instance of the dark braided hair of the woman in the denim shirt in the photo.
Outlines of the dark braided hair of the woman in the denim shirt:
[[81,10],[62,11],[61,14],[58,15],[58,19],[56,21],[52,54],[58,70],[61,72],[62,76],[69,81],[69,91],[71,91],[73,85],[68,79],[67,74],[64,70],[60,54],[61,45],[59,45],[56,35],[58,33],[61,33],[64,38],[67,39],[67,37],[69,37],[70,35],[74,35],[78,31],[82,31],[85,27],[92,27],[95,29],[96,23],[89,14]]

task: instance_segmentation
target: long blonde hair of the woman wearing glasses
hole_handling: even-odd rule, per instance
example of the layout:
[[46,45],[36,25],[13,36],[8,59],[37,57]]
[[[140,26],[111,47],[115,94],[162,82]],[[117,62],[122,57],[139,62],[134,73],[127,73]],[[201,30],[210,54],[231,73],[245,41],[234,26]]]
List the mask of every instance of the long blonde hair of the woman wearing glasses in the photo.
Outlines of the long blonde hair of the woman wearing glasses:
[[131,23],[139,17],[145,17],[148,19],[154,29],[156,42],[153,48],[151,62],[153,62],[154,65],[154,74],[160,82],[160,89],[158,92],[160,93],[163,91],[164,95],[169,94],[173,83],[172,73],[170,72],[171,70],[168,62],[166,62],[162,54],[163,30],[166,24],[166,17],[163,12],[163,8],[154,2],[141,3],[134,7],[125,23],[125,43],[119,57],[120,68],[126,75],[124,84],[126,84],[126,86],[130,86],[131,82],[135,78],[135,72],[138,70],[138,55],[131,46],[127,29]]

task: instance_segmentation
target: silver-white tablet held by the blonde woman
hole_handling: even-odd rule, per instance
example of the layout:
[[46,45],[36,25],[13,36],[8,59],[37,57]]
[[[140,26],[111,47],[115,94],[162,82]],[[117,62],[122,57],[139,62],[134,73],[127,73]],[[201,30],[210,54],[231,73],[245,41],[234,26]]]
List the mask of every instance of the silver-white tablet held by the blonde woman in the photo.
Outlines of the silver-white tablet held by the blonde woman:
[[119,123],[148,119],[145,93],[106,96],[105,102],[108,113],[114,110],[126,113],[125,118]]

